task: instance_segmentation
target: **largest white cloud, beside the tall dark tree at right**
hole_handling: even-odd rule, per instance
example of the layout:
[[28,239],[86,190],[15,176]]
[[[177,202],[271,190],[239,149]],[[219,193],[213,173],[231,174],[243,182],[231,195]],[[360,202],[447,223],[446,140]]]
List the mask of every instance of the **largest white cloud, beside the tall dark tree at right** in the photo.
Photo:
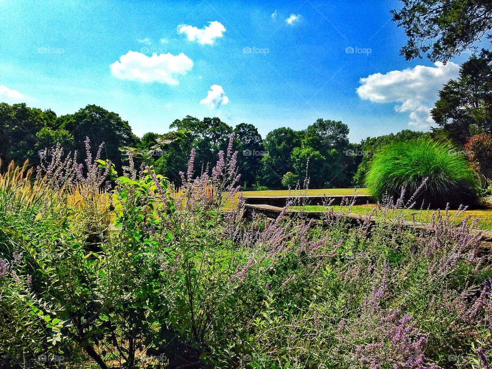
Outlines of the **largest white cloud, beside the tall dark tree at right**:
[[435,67],[416,66],[402,71],[371,74],[360,79],[357,94],[373,103],[399,103],[395,111],[409,113],[409,126],[426,129],[434,123],[430,109],[438,99],[439,90],[458,73],[457,64],[449,61],[444,65],[438,61]]

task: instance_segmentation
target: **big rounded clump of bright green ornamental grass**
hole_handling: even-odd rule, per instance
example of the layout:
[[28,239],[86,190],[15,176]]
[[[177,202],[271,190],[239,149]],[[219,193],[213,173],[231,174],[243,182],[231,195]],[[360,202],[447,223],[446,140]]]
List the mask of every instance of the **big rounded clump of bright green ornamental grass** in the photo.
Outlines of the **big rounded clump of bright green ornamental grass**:
[[365,185],[377,200],[385,195],[398,198],[405,188],[408,201],[424,181],[412,199],[419,206],[443,209],[449,203],[456,209],[479,204],[479,182],[468,159],[446,141],[420,138],[382,148],[374,156]]

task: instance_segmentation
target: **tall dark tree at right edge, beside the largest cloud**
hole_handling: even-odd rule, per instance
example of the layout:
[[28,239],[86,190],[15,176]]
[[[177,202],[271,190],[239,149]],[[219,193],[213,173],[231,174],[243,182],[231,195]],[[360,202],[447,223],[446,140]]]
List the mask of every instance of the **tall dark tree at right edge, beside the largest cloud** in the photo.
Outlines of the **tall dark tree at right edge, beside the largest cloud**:
[[430,112],[457,144],[477,133],[492,132],[492,53],[482,50],[460,67],[459,77],[439,91]]

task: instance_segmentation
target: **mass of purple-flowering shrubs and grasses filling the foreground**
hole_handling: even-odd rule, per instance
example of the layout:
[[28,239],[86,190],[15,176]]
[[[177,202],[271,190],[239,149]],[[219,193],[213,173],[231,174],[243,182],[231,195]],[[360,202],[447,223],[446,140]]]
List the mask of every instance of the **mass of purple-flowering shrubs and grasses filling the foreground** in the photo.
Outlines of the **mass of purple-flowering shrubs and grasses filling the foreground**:
[[179,191],[131,154],[0,187],[0,366],[488,367],[480,235],[447,211],[406,228],[405,192],[373,227],[244,221],[232,143]]

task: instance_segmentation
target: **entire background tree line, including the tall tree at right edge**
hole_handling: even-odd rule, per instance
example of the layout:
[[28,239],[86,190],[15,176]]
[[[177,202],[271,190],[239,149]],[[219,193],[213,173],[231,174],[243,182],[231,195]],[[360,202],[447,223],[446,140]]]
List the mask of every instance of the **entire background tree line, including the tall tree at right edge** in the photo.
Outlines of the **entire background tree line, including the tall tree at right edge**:
[[[195,162],[203,171],[209,170],[216,153],[227,149],[234,133],[243,187],[295,187],[297,182],[302,185],[307,173],[310,188],[343,188],[364,185],[371,157],[378,148],[430,135],[450,140],[459,149],[481,150],[480,162],[475,166],[480,169],[492,161],[487,149],[491,141],[488,135],[492,134],[491,52],[482,50],[463,63],[458,78],[449,80],[439,92],[431,114],[437,124],[431,132],[403,130],[353,144],[348,140],[346,124],[323,118],[304,130],[281,127],[262,138],[252,124],[241,123],[233,128],[218,117],[186,116],[173,121],[169,133],[149,132],[137,137],[128,121],[95,105],[57,116],[50,109],[0,103],[0,158],[4,164],[29,160],[36,166],[39,152],[56,144],[66,153],[83,155],[84,141],[89,137],[93,154],[105,142],[103,157],[118,170],[131,151],[137,162],[147,162],[179,185],[179,172],[186,168],[193,148],[197,152]],[[488,172],[484,175],[491,176]]]

